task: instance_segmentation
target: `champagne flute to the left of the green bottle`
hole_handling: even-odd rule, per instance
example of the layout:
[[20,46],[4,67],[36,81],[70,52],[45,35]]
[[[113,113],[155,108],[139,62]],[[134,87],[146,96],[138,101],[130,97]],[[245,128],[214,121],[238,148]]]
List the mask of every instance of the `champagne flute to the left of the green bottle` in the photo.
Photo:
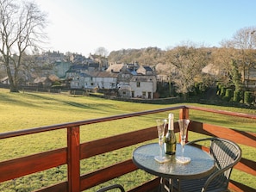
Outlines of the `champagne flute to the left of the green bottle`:
[[159,156],[155,156],[154,159],[159,163],[165,163],[166,161],[170,160],[170,158],[166,158],[165,156],[163,156],[163,144],[164,144],[165,126],[166,126],[167,120],[158,119],[156,120],[156,122],[157,122],[158,134],[159,134],[160,153],[159,153]]

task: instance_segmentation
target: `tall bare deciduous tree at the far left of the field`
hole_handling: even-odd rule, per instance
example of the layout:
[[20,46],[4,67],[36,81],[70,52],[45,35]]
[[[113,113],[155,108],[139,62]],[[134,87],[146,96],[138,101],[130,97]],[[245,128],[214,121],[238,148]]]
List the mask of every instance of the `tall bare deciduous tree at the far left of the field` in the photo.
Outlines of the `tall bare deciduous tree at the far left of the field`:
[[9,77],[10,92],[18,92],[22,56],[40,48],[47,35],[47,15],[34,2],[0,1],[0,53]]

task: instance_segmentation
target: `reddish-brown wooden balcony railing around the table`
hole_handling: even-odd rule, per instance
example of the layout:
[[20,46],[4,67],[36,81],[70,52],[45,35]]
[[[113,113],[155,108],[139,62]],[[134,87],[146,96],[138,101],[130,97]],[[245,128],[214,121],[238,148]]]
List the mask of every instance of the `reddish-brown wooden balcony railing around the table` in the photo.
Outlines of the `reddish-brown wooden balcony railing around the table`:
[[[162,112],[170,112],[172,110],[179,110],[179,118],[190,118],[190,110],[199,110],[207,113],[232,115],[240,118],[249,118],[256,121],[256,115],[240,114],[228,111],[215,110],[211,108],[200,108],[193,106],[178,106],[172,108],[160,108],[150,111],[143,111],[128,115],[115,115],[99,119],[76,121],[60,125],[48,127],[36,127],[32,129],[19,130],[10,133],[0,133],[0,139],[18,138],[22,135],[51,132],[57,129],[66,129],[67,142],[66,147],[54,149],[53,151],[41,152],[29,155],[22,158],[10,159],[0,162],[0,185],[1,183],[23,177],[41,170],[48,170],[50,168],[58,167],[66,164],[67,180],[65,182],[56,183],[52,186],[43,189],[37,189],[37,192],[78,192],[86,189],[91,189],[100,183],[107,182],[113,178],[121,177],[129,172],[137,170],[131,159],[104,167],[100,170],[93,170],[92,172],[81,174],[80,161],[82,159],[91,158],[105,152],[111,152],[127,146],[133,146],[141,142],[149,141],[157,138],[156,128],[147,127],[143,130],[134,131],[130,133],[122,133],[111,136],[109,138],[97,139],[89,142],[80,143],[80,129],[81,126],[89,124],[102,123],[104,121],[116,121],[126,118],[142,115],[152,115]],[[191,119],[190,119],[191,120]],[[178,123],[175,122],[175,132],[178,132]],[[232,128],[225,128],[215,125],[209,125],[203,122],[191,120],[189,127],[190,132],[202,133],[205,137],[215,136],[224,139],[230,139],[234,142],[244,145],[256,147],[256,133],[247,133],[238,131]],[[138,136],[140,135],[140,136]],[[118,141],[118,142],[117,142]],[[1,153],[0,153],[1,155]],[[245,172],[249,175],[256,176],[255,161],[241,158],[240,163],[234,169]],[[136,179],[136,178],[134,178]],[[121,183],[122,184],[122,183]],[[140,186],[129,189],[129,191],[154,191],[159,185],[159,178],[141,183]],[[231,180],[229,188],[234,191],[253,191],[255,189]]]

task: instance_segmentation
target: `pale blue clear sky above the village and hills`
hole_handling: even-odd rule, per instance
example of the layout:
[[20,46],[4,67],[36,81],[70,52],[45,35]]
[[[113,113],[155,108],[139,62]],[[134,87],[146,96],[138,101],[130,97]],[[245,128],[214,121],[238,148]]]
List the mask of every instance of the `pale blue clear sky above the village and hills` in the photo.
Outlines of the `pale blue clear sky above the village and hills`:
[[48,13],[47,50],[82,53],[192,41],[220,46],[256,27],[254,0],[34,0]]

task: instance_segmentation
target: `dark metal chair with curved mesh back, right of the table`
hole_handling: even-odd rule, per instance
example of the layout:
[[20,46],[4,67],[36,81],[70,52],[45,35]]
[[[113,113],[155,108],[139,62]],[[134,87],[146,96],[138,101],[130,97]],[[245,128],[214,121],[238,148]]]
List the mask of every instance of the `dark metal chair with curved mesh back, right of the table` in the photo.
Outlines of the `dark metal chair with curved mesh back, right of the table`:
[[[197,139],[187,143],[209,142],[209,154],[215,159],[215,171],[208,177],[193,180],[174,181],[180,191],[220,192],[228,191],[228,182],[235,164],[240,161],[241,149],[233,141],[220,138]],[[179,183],[178,183],[179,182]]]

